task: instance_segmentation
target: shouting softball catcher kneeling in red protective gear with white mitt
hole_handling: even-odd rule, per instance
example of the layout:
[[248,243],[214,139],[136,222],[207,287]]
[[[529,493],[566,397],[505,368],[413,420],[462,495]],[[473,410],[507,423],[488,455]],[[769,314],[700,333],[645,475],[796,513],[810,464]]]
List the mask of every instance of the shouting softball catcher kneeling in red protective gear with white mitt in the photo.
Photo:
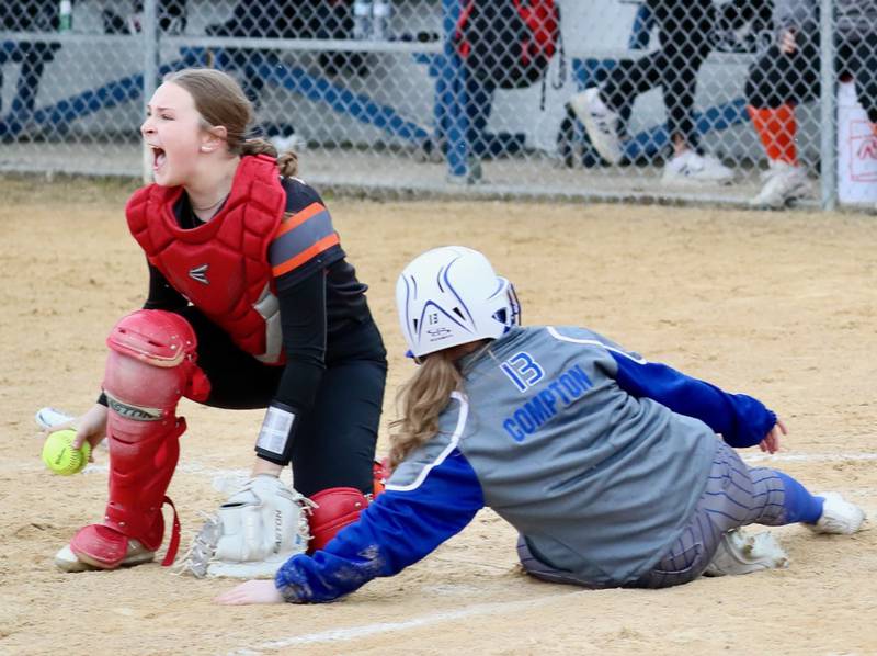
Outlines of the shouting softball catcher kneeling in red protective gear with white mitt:
[[[307,548],[306,497],[320,493],[321,539],[355,520],[373,493],[386,353],[361,283],[296,157],[244,134],[252,108],[227,75],[169,76],[141,126],[155,184],[128,201],[149,295],[122,318],[98,404],[77,442],[110,444],[110,499],[55,558],[66,572],[151,561],[179,459],[182,397],[266,408],[252,478],[210,518],[182,564],[207,576],[273,576]],[[280,479],[292,462],[296,489]],[[328,499],[328,500],[327,500]],[[333,499],[343,502],[333,504]],[[328,509],[328,510],[327,510]],[[337,510],[339,517],[326,518]],[[176,553],[174,510],[163,559]]]

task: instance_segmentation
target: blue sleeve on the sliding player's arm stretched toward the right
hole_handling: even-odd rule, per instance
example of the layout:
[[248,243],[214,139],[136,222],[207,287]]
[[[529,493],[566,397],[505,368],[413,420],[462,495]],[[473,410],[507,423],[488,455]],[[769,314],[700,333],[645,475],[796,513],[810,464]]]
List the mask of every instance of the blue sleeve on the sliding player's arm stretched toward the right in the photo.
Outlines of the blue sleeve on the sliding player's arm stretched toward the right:
[[610,353],[618,364],[616,381],[622,389],[699,419],[721,433],[731,446],[758,444],[776,423],[776,415],[756,398],[728,394],[665,364],[637,360],[612,350]]

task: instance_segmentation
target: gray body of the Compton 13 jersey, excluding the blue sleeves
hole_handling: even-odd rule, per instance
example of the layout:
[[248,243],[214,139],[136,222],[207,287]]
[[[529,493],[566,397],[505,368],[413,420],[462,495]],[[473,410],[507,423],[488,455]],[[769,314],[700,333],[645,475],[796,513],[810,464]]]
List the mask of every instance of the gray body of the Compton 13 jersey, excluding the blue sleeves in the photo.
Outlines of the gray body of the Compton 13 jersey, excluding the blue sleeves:
[[537,557],[595,585],[639,577],[685,527],[717,440],[702,421],[622,389],[616,358],[637,361],[582,328],[512,331],[466,362],[465,395],[394,487],[459,449],[485,504]]

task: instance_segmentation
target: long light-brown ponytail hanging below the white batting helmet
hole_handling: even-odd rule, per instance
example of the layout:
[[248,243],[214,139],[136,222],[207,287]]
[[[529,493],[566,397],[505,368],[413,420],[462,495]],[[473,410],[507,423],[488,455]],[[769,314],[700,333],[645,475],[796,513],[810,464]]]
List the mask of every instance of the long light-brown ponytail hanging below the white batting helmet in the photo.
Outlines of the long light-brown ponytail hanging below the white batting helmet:
[[401,418],[390,423],[390,468],[438,431],[438,415],[451,400],[451,393],[460,389],[463,374],[452,359],[452,350],[436,351],[423,358],[396,397]]

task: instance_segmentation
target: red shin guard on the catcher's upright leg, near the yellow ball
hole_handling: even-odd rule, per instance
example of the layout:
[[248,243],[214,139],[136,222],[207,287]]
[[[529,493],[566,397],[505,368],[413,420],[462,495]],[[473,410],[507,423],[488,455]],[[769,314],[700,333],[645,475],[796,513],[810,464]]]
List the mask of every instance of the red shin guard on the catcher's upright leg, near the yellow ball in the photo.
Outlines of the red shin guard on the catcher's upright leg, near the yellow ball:
[[[70,548],[105,569],[126,564],[130,540],[155,552],[164,536],[161,506],[180,455],[185,420],[176,417],[181,396],[203,400],[209,383],[195,364],[195,333],[179,315],[140,310],[122,319],[107,338],[104,391],[110,411],[110,501],[102,524],[81,529]],[[173,562],[180,524],[174,525],[163,565]]]

